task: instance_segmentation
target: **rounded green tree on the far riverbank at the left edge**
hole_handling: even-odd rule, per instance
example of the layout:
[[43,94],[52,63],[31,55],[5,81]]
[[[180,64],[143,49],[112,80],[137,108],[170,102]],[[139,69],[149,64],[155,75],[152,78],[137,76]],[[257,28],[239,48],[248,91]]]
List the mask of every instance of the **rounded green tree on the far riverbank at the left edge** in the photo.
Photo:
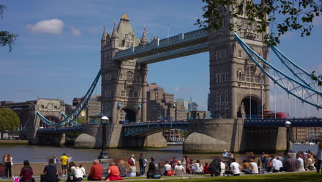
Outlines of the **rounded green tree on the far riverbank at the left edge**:
[[20,119],[16,112],[10,108],[0,108],[0,131],[17,130]]

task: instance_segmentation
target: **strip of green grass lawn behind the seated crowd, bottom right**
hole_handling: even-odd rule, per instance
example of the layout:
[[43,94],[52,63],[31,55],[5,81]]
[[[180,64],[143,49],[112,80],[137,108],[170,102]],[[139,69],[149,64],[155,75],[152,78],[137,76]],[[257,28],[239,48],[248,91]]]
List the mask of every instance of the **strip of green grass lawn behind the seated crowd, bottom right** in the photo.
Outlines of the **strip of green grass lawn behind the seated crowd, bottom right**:
[[[138,180],[140,181],[140,180]],[[151,181],[151,180],[150,180]],[[153,180],[155,181],[155,180]],[[299,172],[299,173],[284,173],[284,174],[259,174],[259,175],[250,175],[250,176],[226,176],[226,177],[205,177],[200,179],[167,179],[162,178],[162,181],[202,181],[202,182],[216,182],[216,181],[225,181],[225,182],[302,182],[302,181],[314,181],[322,182],[322,174],[316,174],[315,172]]]

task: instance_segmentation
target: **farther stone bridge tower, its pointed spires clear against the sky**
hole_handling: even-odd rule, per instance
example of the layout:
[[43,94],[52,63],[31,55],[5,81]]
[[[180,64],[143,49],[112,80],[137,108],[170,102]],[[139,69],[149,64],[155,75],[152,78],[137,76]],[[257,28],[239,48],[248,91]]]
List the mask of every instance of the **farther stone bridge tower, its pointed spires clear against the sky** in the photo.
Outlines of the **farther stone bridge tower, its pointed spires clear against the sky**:
[[147,65],[136,63],[136,59],[114,61],[116,52],[147,43],[144,28],[142,39],[137,39],[127,14],[112,34],[104,28],[101,39],[101,74],[103,114],[111,122],[146,121],[147,118]]

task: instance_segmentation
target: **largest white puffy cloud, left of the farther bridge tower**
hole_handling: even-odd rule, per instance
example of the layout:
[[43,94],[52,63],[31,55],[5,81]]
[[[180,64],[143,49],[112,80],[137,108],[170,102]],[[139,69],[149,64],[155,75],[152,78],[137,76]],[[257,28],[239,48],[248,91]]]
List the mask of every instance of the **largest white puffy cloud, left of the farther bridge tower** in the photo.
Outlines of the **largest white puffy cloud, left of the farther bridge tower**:
[[61,34],[63,32],[64,22],[60,19],[44,19],[34,25],[28,24],[27,28],[32,32],[45,34]]

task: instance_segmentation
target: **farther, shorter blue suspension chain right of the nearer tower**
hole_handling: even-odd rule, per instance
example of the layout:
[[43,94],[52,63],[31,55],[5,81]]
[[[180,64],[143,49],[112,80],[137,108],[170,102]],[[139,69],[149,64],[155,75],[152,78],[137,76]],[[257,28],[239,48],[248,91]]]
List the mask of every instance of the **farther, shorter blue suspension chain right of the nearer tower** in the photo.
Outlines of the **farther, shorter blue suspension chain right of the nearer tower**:
[[[275,46],[270,46],[273,52],[277,55],[279,60],[286,65],[286,68],[294,74],[295,77],[300,79],[305,85],[308,85],[310,88],[317,90],[321,92],[321,89],[319,88],[318,82],[311,79],[311,74],[307,71],[305,71],[303,68],[301,68],[299,65],[294,63],[292,60],[290,60],[288,57],[286,57],[285,54],[283,54],[279,49],[277,49]],[[321,81],[318,79],[318,81]]]

